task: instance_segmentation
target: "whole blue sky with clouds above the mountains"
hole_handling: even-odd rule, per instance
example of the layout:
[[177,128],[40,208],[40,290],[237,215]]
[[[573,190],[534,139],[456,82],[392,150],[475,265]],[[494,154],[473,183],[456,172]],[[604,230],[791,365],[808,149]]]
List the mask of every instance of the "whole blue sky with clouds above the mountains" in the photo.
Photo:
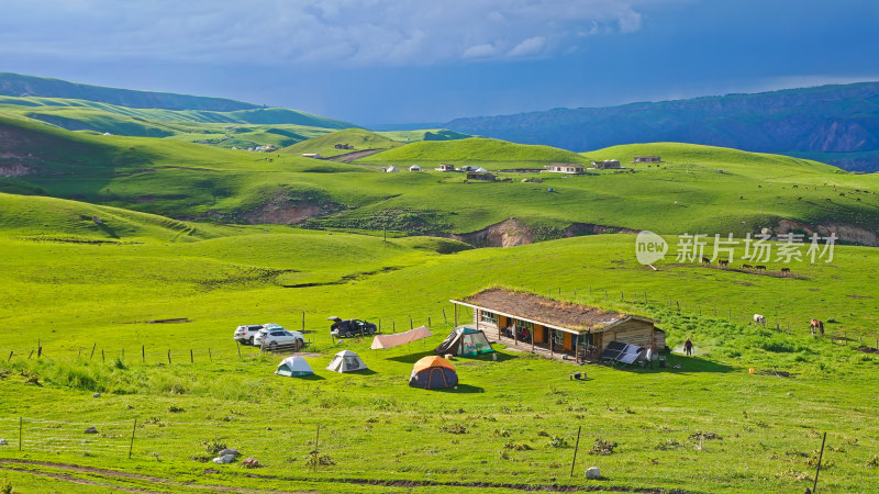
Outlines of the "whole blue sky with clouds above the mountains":
[[876,0],[4,0],[0,71],[358,124],[879,80]]

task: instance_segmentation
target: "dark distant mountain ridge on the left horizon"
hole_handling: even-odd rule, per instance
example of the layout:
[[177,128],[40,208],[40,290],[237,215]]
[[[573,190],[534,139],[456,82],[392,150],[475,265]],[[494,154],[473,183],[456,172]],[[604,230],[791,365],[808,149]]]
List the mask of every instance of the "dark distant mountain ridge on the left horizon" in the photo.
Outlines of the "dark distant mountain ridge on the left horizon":
[[202,110],[233,112],[262,108],[243,101],[223,98],[194,97],[170,92],[135,91],[131,89],[104,88],[80,85],[60,79],[22,76],[0,72],[0,96],[68,98],[99,101],[127,108],[151,108],[163,110]]

